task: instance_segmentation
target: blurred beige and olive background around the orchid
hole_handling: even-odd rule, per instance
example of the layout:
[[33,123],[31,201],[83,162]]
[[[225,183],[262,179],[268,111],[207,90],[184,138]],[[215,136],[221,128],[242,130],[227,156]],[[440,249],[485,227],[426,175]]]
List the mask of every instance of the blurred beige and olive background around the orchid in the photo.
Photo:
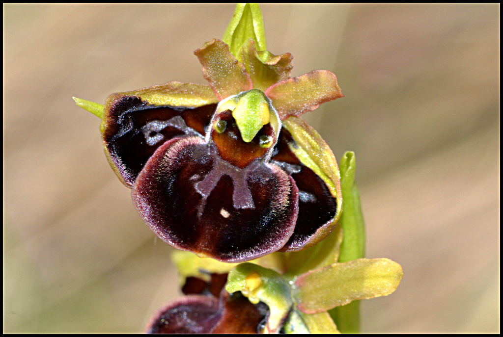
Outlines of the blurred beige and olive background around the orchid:
[[[234,5],[4,5],[4,332],[140,332],[178,296],[100,121],[72,96],[206,84],[193,51]],[[304,115],[355,151],[367,257],[400,263],[363,332],[499,331],[499,5],[264,5],[292,76],[346,97]]]

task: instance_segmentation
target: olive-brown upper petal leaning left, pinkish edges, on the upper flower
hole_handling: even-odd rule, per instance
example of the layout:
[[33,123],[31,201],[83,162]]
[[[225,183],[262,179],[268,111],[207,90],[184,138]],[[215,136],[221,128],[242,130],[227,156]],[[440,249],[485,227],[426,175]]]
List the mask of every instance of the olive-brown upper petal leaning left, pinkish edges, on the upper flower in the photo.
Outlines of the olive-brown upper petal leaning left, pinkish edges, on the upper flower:
[[223,41],[214,39],[207,42],[194,54],[203,65],[204,78],[210,82],[219,100],[253,88],[246,69]]

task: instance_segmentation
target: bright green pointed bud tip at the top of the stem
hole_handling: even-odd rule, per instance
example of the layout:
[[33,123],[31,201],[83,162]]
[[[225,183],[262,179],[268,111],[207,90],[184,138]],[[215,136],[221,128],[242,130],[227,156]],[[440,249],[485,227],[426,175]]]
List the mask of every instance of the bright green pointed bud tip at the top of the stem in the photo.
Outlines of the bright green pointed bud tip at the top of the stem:
[[249,39],[257,44],[257,50],[267,50],[264,19],[259,4],[237,4],[232,20],[223,35],[223,42],[238,60],[239,50]]

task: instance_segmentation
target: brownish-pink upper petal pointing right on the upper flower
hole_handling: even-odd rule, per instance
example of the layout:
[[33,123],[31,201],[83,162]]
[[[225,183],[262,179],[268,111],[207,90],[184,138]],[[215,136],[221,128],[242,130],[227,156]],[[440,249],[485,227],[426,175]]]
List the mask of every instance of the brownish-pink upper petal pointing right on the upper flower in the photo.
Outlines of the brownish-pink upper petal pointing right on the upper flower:
[[282,120],[300,116],[319,104],[344,97],[337,77],[328,70],[313,70],[305,75],[273,84],[266,90]]

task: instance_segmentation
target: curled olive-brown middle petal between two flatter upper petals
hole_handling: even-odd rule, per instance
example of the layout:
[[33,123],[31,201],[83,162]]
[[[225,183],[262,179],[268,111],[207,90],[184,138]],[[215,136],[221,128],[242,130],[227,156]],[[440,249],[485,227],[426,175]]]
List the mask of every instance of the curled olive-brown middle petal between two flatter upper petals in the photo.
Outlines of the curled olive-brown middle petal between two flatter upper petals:
[[244,64],[253,87],[262,91],[276,82],[288,79],[293,68],[292,54],[274,55],[267,50],[257,51],[252,39],[242,46],[238,59]]

